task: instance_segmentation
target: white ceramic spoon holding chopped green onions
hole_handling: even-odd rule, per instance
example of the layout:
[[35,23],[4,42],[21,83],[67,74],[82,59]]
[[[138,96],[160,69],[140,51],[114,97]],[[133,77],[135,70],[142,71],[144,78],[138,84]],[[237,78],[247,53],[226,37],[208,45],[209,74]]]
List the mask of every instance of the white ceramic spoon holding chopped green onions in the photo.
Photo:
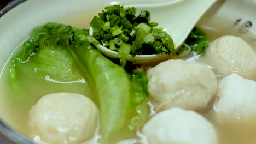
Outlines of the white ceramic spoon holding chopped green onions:
[[[182,45],[188,37],[190,31],[194,28],[197,21],[217,0],[172,0],[162,3],[148,3],[124,5],[125,7],[135,7],[137,11],[148,10],[151,14],[151,22],[157,22],[158,27],[164,28],[171,35],[175,48]],[[93,29],[90,28],[90,35]],[[101,44],[94,43],[98,50],[111,58],[119,58],[117,51],[109,50]],[[137,64],[148,64],[164,61],[170,58],[170,55],[131,55],[126,56],[127,61]]]

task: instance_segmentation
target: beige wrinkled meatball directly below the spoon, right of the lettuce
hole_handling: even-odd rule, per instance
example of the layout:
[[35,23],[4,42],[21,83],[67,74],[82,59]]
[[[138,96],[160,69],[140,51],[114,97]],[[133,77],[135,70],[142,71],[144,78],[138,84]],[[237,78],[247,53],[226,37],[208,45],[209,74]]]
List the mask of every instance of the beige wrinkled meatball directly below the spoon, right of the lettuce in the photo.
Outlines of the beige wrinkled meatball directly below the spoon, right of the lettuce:
[[199,110],[217,91],[217,79],[205,64],[168,60],[147,71],[148,92],[156,111],[170,107]]

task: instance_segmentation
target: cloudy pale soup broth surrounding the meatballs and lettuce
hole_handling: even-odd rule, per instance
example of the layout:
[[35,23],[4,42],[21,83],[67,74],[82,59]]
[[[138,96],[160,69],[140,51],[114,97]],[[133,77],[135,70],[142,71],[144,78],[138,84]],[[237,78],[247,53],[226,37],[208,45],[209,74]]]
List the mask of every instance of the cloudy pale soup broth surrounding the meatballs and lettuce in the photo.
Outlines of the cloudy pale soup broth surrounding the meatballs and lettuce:
[[[78,17],[69,20],[78,20]],[[81,27],[79,21],[76,21],[77,23],[68,21],[67,23],[70,23],[74,27]],[[256,52],[256,35],[249,30],[247,32],[243,31],[244,29],[241,29],[242,23],[241,25],[235,25],[235,22],[236,21],[203,17],[197,26],[202,28],[209,35],[210,40],[219,38],[222,35],[236,35],[241,37],[243,40],[247,41]],[[88,26],[85,28],[88,28]],[[19,48],[16,49],[16,51],[19,50]],[[24,71],[21,70],[23,73],[20,74],[21,76],[18,80],[22,82],[22,88],[25,89],[26,93],[16,95],[11,88],[11,81],[9,79],[9,63],[10,62],[7,62],[7,66],[3,69],[0,77],[0,115],[11,127],[28,137],[32,136],[27,125],[28,112],[42,95],[53,92],[74,92],[92,98],[91,95],[93,92],[91,92],[90,86],[87,85],[82,77],[77,80],[65,82],[53,80],[49,76],[38,77],[36,69],[29,67],[29,65],[27,65],[28,69]],[[34,71],[34,75],[31,75],[30,79],[24,79],[22,77],[22,75],[26,75],[27,70]],[[214,99],[207,110],[199,111],[199,113],[205,116],[215,126],[219,136],[219,144],[256,142],[256,137],[254,136],[254,134],[256,134],[256,118],[250,120],[234,118],[234,122],[226,123],[225,117],[223,117],[223,119],[216,119],[214,117],[213,103]],[[153,113],[154,112],[152,112],[152,114]],[[140,135],[138,136],[140,137]]]

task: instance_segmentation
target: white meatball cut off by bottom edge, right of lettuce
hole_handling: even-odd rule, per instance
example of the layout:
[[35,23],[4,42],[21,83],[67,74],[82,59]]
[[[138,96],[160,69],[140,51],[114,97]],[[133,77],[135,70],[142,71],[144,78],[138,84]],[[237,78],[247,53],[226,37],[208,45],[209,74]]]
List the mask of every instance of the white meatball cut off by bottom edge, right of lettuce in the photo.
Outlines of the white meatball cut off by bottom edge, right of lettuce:
[[172,108],[153,116],[142,128],[150,144],[217,144],[213,125],[194,111]]

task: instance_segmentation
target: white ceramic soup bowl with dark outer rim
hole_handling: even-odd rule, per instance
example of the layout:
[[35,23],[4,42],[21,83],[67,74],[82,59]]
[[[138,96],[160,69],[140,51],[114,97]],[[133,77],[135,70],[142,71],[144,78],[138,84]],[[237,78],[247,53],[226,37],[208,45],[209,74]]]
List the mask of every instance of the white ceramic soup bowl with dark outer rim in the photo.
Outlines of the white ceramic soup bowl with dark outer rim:
[[[22,0],[18,1],[16,2],[22,2]],[[89,28],[89,22],[92,17],[97,15],[106,5],[139,2],[135,0],[28,0],[13,9],[5,9],[9,11],[0,17],[0,92],[4,91],[2,86],[5,81],[4,77],[1,77],[2,69],[5,67],[16,47],[19,47],[29,37],[34,27],[42,26],[48,22],[60,22],[78,28]],[[148,2],[155,3],[153,0]],[[161,2],[166,2],[166,0],[162,0]],[[15,4],[12,6],[15,6]],[[255,0],[219,0],[200,20],[198,25],[206,31],[220,31],[220,33],[223,32],[218,27],[222,27],[223,29],[231,28],[234,29],[234,35],[243,35],[251,31],[254,35],[245,36],[244,40],[253,47],[256,47],[255,14]],[[216,24],[216,29],[213,23]],[[208,25],[212,27],[207,27]],[[214,39],[219,36],[210,35],[210,38]],[[0,101],[3,101],[1,95]],[[7,137],[7,139],[14,143],[31,143],[25,136],[12,129],[14,127],[15,125],[12,124],[12,121],[8,117],[5,104],[0,102],[0,135]]]

